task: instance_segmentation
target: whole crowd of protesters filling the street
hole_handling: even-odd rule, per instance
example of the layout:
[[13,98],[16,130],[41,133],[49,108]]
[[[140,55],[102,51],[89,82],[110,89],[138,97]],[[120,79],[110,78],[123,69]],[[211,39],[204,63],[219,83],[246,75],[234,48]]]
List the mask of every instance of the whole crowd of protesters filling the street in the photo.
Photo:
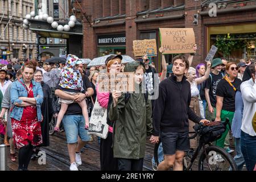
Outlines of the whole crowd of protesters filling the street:
[[[2,67],[0,131],[4,144],[10,146],[12,162],[18,151],[18,170],[26,171],[30,160],[39,157],[40,147],[49,146],[49,122],[55,117],[55,131],[60,131],[61,122],[67,137],[69,169],[77,171],[81,149],[91,140],[88,124],[97,101],[108,110],[109,125],[106,139],[99,138],[101,170],[141,171],[147,137],[151,143],[162,141],[160,164],[156,166],[152,159],[153,169],[183,170],[185,152],[194,151],[199,142],[188,139],[193,126],[229,118],[231,129],[227,127],[214,144],[236,152],[238,170],[246,166],[252,171],[256,164],[255,61],[215,58],[193,68],[193,53],[177,55],[168,63],[162,47],[159,53],[159,74],[147,55],[125,65],[122,55],[110,55],[105,65],[90,68],[75,55],[68,55],[66,64],[29,60]],[[100,92],[97,77],[110,72],[134,72],[138,92]],[[230,138],[235,151],[229,147]],[[216,160],[224,161],[220,155]]]

